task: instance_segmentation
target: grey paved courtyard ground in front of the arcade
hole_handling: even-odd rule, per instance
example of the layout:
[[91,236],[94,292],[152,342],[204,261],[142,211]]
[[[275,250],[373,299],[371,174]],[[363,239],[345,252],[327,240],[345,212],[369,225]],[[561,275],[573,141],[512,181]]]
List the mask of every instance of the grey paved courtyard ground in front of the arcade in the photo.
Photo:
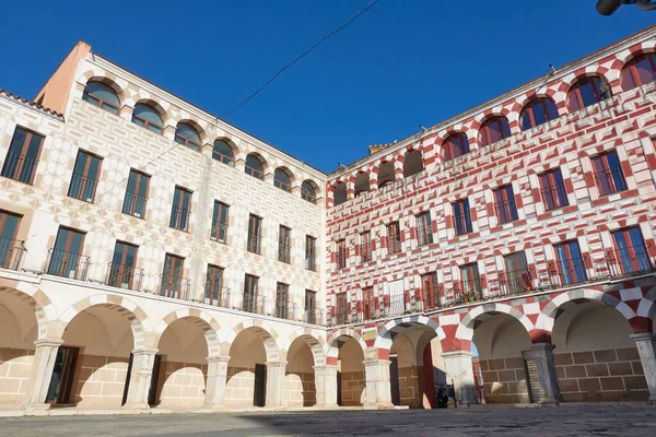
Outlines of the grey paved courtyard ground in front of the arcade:
[[656,436],[656,408],[213,413],[0,418],[0,436]]

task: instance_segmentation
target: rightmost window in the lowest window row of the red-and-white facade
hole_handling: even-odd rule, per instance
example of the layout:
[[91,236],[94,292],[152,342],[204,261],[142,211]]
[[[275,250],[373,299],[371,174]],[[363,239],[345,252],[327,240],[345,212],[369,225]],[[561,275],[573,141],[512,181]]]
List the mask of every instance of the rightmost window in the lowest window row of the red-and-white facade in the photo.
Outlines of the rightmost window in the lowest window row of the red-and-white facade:
[[610,253],[609,261],[620,273],[644,272],[652,268],[652,261],[639,227],[629,227],[612,233],[616,253]]

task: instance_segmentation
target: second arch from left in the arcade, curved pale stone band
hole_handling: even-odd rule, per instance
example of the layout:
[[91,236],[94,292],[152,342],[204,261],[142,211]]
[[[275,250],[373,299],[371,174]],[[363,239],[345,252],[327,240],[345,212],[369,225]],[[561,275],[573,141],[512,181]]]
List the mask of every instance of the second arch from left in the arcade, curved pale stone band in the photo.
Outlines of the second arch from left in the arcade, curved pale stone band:
[[132,330],[132,336],[134,339],[134,349],[142,349],[148,345],[147,335],[152,332],[153,327],[145,311],[137,304],[125,297],[106,294],[87,296],[81,300],[78,300],[66,311],[63,311],[60,320],[63,322],[65,327],[59,333],[59,338],[62,338],[66,326],[70,323],[75,316],[85,309],[95,306],[115,309],[119,315],[128,320],[130,329]]

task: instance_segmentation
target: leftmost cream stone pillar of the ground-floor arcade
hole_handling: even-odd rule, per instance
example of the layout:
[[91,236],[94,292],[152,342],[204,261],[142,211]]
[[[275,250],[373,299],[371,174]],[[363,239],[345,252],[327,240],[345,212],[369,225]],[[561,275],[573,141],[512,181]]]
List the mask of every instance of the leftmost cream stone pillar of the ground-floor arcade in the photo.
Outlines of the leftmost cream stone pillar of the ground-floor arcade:
[[25,397],[24,410],[48,410],[50,404],[46,403],[46,395],[52,379],[52,369],[57,351],[63,340],[45,339],[34,342],[34,361],[30,371],[30,383]]

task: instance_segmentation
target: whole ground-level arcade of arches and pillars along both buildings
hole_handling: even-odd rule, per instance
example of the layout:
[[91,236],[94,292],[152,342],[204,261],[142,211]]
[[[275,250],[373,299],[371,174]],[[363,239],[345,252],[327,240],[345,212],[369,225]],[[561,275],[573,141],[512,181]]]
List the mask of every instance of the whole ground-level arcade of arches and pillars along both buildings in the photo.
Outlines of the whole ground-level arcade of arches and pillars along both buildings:
[[643,277],[326,329],[3,272],[0,409],[433,408],[449,385],[466,403],[654,402],[655,285]]

